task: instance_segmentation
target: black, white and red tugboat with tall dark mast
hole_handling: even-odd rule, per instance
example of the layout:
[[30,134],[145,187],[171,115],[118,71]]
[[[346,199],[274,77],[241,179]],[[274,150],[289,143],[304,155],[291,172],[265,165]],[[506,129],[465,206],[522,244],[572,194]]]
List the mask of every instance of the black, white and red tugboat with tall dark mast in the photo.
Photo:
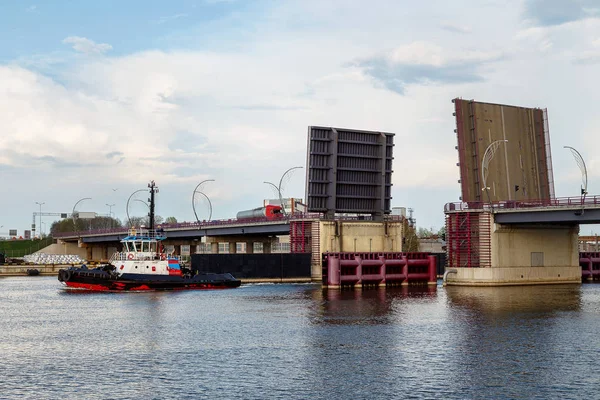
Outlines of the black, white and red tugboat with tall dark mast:
[[154,229],[154,181],[150,189],[150,226],[131,229],[121,240],[123,251],[112,255],[107,265],[89,269],[85,265],[58,271],[58,280],[70,288],[94,291],[228,289],[241,281],[231,274],[192,271],[181,266],[179,256],[167,254],[161,241],[164,232]]

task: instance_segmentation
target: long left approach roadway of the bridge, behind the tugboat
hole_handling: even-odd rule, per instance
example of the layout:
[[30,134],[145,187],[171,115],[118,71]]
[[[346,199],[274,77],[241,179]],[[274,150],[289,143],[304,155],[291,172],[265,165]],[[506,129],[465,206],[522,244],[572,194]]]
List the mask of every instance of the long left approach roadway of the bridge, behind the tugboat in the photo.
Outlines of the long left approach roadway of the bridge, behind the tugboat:
[[[218,220],[210,222],[183,222],[160,224],[167,239],[199,239],[203,236],[270,236],[290,233],[290,218],[267,220],[252,218],[244,220]],[[118,242],[127,236],[127,228],[103,229],[81,232],[61,232],[53,235],[65,242],[83,241],[84,243]]]

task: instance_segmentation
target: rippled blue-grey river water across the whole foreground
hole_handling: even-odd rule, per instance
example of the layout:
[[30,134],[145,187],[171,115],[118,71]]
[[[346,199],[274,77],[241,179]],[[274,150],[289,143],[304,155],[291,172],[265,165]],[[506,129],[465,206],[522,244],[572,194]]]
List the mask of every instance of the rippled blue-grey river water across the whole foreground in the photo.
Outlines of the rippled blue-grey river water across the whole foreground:
[[600,398],[600,285],[89,293],[0,278],[0,398]]

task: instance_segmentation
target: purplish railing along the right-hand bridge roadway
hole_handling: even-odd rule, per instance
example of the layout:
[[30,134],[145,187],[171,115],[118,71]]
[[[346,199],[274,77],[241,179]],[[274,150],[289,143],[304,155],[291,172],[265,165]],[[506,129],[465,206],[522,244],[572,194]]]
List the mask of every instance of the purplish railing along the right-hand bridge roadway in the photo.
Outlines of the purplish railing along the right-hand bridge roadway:
[[577,197],[556,197],[542,200],[505,200],[486,203],[483,201],[455,202],[444,206],[445,212],[483,210],[514,210],[524,208],[560,208],[596,206],[600,207],[600,195]]

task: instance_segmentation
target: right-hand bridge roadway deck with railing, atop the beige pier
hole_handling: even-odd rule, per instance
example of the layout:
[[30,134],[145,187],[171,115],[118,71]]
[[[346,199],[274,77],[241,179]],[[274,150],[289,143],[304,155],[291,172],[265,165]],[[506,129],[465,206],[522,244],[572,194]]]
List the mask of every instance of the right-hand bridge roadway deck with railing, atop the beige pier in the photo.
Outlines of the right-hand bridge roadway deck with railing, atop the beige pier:
[[599,224],[600,196],[562,197],[552,200],[448,203],[446,213],[487,211],[499,224]]

